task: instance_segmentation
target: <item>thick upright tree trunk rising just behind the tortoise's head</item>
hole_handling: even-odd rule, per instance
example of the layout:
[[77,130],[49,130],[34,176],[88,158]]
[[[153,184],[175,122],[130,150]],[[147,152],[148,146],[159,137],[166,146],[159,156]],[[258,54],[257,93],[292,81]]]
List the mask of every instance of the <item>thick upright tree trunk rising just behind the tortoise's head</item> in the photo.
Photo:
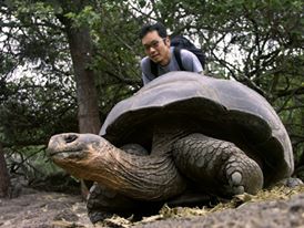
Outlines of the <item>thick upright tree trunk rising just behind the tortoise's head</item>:
[[72,27],[67,33],[77,82],[79,132],[98,134],[101,124],[94,72],[89,69],[92,61],[90,33],[87,28]]

